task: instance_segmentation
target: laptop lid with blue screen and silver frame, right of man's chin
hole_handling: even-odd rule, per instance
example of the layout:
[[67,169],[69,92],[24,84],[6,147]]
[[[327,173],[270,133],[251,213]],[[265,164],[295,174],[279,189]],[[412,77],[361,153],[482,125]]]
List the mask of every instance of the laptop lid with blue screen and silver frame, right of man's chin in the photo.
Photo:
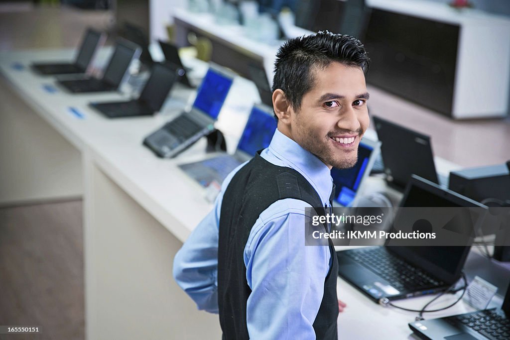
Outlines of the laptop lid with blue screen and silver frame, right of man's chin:
[[[364,137],[358,147],[358,162],[350,169],[331,169],[335,183],[335,201],[341,206],[355,206],[359,200],[360,188],[370,174],[379,154],[380,142]],[[336,204],[335,204],[336,205]]]

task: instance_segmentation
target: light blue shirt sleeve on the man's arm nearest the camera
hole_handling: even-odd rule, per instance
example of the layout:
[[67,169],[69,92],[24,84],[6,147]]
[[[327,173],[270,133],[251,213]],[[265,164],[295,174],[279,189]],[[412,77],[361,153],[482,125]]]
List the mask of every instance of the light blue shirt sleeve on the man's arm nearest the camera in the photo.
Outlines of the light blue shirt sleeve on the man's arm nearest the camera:
[[251,229],[244,262],[252,339],[315,339],[331,256],[328,247],[304,245],[305,206],[295,199],[277,201]]

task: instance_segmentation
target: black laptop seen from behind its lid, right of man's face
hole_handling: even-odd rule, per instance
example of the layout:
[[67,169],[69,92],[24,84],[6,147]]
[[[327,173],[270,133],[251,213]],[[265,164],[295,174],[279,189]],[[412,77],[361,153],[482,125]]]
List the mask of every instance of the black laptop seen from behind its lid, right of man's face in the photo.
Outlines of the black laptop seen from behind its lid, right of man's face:
[[402,190],[412,174],[446,185],[438,178],[430,137],[386,119],[373,116],[388,184]]

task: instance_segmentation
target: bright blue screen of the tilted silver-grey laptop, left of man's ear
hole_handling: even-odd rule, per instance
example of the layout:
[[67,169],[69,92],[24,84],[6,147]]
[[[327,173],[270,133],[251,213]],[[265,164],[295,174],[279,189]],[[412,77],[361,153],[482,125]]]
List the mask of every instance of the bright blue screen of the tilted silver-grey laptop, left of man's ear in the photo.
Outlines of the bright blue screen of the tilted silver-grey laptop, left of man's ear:
[[231,78],[210,68],[203,77],[193,107],[217,119],[231,85]]

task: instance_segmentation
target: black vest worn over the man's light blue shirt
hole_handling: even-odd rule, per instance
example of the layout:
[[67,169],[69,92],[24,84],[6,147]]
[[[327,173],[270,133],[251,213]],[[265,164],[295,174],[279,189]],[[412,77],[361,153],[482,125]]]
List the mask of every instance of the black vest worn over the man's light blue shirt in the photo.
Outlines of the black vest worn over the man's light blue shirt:
[[[225,340],[249,338],[246,302],[251,290],[246,282],[243,251],[259,215],[272,203],[285,198],[299,199],[313,207],[322,206],[317,192],[299,172],[273,165],[259,154],[234,175],[225,190],[218,242],[218,305]],[[324,209],[317,214],[324,215]],[[324,296],[313,323],[317,339],[338,338],[338,260],[331,242],[329,250],[333,264],[325,278]]]

